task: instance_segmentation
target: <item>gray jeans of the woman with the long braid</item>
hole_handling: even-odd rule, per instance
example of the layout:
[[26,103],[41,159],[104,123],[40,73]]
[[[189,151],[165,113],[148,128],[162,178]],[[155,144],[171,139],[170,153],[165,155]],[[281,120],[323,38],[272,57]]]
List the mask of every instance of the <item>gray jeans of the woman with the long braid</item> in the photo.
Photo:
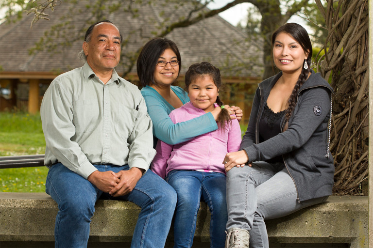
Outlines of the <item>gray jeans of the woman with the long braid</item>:
[[283,217],[327,198],[299,203],[294,182],[282,163],[260,161],[252,167],[234,167],[227,173],[226,229],[246,229],[250,233],[250,248],[268,248],[264,219]]

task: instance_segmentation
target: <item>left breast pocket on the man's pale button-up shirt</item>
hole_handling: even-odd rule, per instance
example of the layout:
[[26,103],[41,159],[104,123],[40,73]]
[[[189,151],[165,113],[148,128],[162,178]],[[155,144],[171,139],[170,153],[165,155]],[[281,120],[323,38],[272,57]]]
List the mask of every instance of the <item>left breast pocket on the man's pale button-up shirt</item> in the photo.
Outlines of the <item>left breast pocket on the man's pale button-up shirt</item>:
[[92,100],[76,100],[74,101],[73,109],[73,124],[76,132],[88,133],[92,132],[100,124],[101,114],[98,102]]

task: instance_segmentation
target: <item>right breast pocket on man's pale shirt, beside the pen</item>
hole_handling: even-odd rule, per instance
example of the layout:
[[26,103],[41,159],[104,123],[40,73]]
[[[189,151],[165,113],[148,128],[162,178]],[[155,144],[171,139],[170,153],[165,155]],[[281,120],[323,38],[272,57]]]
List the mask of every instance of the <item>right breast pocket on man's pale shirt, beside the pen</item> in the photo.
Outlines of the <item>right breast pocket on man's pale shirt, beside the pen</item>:
[[136,109],[131,109],[126,106],[123,106],[118,111],[115,132],[126,142],[135,128],[138,113]]

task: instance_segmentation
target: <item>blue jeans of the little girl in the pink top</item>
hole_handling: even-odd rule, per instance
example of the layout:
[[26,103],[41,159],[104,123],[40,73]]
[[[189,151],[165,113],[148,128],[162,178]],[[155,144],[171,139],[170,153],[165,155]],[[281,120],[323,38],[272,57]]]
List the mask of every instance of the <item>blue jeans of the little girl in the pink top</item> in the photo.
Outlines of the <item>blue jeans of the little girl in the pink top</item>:
[[196,231],[200,202],[206,202],[211,212],[211,247],[224,247],[227,222],[226,176],[219,172],[170,171],[166,181],[176,190],[174,247],[191,247]]

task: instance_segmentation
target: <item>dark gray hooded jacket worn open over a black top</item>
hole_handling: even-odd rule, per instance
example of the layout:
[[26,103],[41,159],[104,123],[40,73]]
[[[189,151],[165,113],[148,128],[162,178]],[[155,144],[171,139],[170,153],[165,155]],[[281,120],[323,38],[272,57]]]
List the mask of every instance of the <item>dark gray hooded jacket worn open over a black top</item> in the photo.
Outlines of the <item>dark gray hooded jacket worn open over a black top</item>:
[[[259,120],[268,95],[282,72],[259,84],[254,96],[248,129],[240,150],[245,150],[249,163],[282,155],[294,180],[298,201],[332,194],[334,162],[329,151],[331,95],[333,88],[319,73],[310,77],[298,92],[297,103],[288,129],[259,143]],[[282,127],[285,124],[283,117]]]

